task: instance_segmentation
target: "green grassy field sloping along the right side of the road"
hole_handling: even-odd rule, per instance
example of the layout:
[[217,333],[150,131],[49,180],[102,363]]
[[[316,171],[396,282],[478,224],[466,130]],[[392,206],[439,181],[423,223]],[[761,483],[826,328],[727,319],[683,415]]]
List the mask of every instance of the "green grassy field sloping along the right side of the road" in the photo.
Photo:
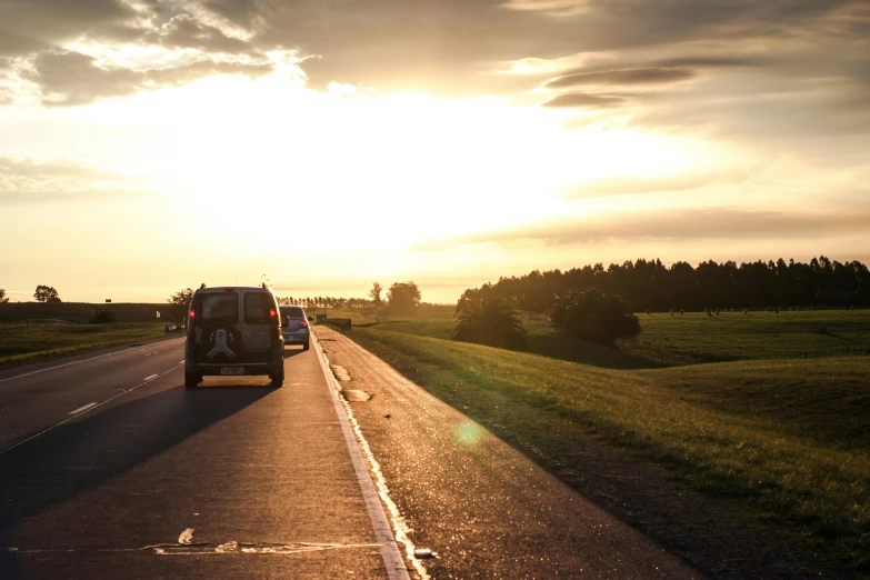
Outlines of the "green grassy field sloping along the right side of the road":
[[[472,417],[492,413],[498,396],[568,419],[704,493],[738,501],[759,524],[798,533],[819,553],[870,573],[870,357],[763,359],[866,344],[870,313],[643,316],[640,340],[648,344],[757,360],[639,368],[650,364],[553,334],[544,320],[529,321],[529,353],[453,342],[446,312],[348,336]],[[509,428],[561,437],[522,421]]]

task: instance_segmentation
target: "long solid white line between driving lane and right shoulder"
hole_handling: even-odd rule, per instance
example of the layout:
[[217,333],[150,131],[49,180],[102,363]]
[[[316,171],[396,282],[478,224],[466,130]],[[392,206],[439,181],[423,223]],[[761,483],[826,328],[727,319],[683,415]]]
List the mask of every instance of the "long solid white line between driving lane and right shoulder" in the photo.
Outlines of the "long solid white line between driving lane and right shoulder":
[[353,429],[350,427],[348,416],[344,413],[344,407],[342,407],[341,401],[339,401],[334,379],[323,361],[324,354],[323,350],[320,348],[320,341],[317,339],[317,334],[313,332],[311,334],[314,337],[317,360],[320,362],[320,369],[323,371],[323,377],[327,379],[327,388],[332,397],[332,404],[336,408],[336,414],[338,414],[339,423],[341,424],[341,432],[344,433],[344,441],[348,443],[348,451],[350,451],[353,471],[357,472],[357,481],[359,481],[360,490],[362,491],[362,499],[366,502],[366,508],[369,510],[369,518],[371,519],[374,538],[381,547],[381,557],[383,558],[383,566],[387,568],[387,576],[390,580],[410,580],[404,559],[396,543],[396,538],[392,536],[392,529],[387,521],[387,514],[383,512],[383,506],[381,506],[378,492],[374,490],[374,483],[371,480],[369,468],[362,459],[362,453],[360,452],[359,443],[357,442],[357,436],[353,434]]

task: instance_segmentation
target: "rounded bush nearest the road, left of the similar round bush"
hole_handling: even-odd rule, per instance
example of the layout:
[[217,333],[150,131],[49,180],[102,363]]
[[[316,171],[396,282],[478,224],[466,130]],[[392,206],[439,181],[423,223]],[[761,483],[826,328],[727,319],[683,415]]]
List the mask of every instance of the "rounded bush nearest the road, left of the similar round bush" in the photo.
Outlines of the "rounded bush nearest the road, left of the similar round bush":
[[520,314],[501,297],[462,297],[453,316],[459,319],[453,340],[526,350],[526,328]]

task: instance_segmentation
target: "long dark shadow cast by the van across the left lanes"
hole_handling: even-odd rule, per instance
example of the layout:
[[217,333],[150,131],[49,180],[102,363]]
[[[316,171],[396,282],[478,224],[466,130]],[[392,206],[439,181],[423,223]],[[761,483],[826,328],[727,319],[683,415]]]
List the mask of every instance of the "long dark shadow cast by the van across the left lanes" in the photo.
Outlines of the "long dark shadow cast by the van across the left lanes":
[[[237,386],[234,386],[237,387]],[[0,578],[24,519],[162,453],[274,392],[272,388],[169,389],[96,412],[0,456]]]

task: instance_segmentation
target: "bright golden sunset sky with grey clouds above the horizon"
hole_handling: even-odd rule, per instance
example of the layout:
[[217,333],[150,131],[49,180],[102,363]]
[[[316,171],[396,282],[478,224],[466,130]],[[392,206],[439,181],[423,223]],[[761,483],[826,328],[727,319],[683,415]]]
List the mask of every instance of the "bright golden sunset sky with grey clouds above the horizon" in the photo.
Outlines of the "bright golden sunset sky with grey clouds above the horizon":
[[870,2],[0,0],[0,288],[870,261]]

